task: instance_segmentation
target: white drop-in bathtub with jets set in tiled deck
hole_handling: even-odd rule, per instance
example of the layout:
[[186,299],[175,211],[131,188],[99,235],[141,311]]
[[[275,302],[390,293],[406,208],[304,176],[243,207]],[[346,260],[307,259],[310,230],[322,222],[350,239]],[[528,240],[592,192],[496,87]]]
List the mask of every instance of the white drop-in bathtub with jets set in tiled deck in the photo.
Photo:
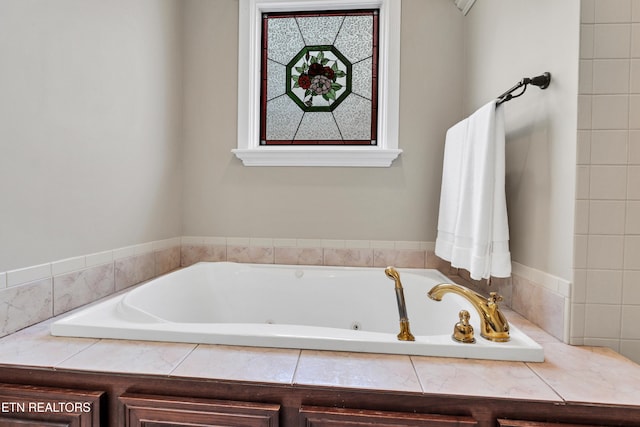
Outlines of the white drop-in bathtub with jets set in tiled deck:
[[[480,337],[463,298],[427,292],[449,280],[400,269],[414,342],[398,341],[394,282],[382,268],[198,263],[52,324],[59,336],[228,344],[541,362],[542,347],[511,327],[511,340]],[[451,338],[471,313],[475,344]]]

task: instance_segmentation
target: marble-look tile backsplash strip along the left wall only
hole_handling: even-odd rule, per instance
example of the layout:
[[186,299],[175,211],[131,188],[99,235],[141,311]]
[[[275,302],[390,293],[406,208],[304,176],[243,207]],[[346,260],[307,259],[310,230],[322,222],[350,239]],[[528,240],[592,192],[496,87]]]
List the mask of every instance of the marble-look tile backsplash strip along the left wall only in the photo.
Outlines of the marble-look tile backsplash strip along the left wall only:
[[0,336],[180,267],[180,238],[0,274]]

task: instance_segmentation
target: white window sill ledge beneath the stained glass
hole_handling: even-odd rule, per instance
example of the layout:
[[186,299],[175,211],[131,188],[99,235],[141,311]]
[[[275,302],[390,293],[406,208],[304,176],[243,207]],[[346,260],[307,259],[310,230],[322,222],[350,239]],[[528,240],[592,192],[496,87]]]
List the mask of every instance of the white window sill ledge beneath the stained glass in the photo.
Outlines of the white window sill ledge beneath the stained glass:
[[231,150],[245,166],[389,167],[400,149],[371,147],[275,147]]

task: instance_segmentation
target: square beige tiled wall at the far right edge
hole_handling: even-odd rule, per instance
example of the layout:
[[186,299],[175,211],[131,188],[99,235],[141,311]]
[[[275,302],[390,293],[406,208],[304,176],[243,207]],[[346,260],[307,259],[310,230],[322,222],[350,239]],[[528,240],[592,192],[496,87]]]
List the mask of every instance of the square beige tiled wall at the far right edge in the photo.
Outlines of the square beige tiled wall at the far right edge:
[[583,0],[570,342],[640,361],[640,1]]

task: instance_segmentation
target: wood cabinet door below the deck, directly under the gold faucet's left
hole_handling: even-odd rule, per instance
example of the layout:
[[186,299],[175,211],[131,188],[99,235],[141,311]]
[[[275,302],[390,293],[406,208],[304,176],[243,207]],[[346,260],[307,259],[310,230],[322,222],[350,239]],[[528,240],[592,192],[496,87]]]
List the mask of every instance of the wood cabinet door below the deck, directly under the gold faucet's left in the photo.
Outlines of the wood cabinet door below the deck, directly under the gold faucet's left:
[[300,427],[357,426],[423,426],[471,427],[478,423],[471,417],[416,414],[404,412],[365,411],[358,409],[302,407]]

